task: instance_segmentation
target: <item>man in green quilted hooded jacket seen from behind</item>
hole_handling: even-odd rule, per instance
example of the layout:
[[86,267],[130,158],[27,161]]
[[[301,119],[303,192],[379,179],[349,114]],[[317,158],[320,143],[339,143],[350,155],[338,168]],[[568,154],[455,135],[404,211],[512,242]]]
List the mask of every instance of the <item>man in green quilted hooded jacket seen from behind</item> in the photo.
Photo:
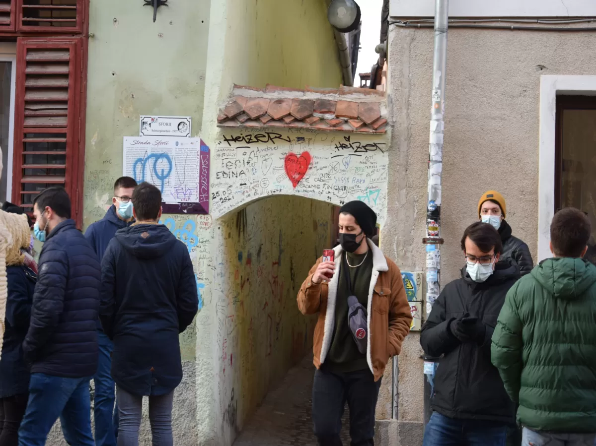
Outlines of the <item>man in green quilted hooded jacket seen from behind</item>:
[[581,211],[555,214],[554,257],[510,289],[492,336],[524,446],[596,444],[596,266],[582,258],[590,234]]

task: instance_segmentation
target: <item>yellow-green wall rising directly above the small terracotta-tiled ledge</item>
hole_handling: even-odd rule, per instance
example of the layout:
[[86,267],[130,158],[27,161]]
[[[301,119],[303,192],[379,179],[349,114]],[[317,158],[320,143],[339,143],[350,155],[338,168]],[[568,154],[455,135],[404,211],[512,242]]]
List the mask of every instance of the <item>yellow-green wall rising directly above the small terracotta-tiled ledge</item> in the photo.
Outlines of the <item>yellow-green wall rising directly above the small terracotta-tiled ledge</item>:
[[324,0],[228,0],[227,24],[224,85],[342,83]]

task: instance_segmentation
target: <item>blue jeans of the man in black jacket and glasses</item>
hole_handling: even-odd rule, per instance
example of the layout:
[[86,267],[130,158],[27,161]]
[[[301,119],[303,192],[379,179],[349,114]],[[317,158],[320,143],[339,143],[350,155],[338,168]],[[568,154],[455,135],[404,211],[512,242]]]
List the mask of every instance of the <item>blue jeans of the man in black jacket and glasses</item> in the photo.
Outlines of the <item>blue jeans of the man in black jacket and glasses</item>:
[[458,420],[433,412],[423,446],[505,446],[508,428],[505,423]]

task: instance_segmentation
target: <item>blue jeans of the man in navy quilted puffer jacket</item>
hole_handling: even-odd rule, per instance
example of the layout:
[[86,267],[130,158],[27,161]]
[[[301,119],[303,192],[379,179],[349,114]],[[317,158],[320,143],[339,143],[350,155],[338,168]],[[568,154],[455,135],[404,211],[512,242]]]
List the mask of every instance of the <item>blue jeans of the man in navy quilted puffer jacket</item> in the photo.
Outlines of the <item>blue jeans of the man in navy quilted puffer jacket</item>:
[[89,379],[32,373],[27,410],[18,430],[18,445],[44,446],[49,431],[60,417],[68,444],[95,446],[91,433]]

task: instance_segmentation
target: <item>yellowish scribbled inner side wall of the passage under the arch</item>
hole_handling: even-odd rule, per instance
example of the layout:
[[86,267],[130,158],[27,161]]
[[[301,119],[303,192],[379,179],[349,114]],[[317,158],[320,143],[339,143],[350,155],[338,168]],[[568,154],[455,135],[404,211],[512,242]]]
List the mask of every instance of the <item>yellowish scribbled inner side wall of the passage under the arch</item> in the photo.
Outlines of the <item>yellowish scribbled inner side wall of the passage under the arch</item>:
[[272,197],[219,220],[215,230],[216,411],[231,444],[266,392],[312,348],[316,316],[296,295],[333,246],[333,205]]

